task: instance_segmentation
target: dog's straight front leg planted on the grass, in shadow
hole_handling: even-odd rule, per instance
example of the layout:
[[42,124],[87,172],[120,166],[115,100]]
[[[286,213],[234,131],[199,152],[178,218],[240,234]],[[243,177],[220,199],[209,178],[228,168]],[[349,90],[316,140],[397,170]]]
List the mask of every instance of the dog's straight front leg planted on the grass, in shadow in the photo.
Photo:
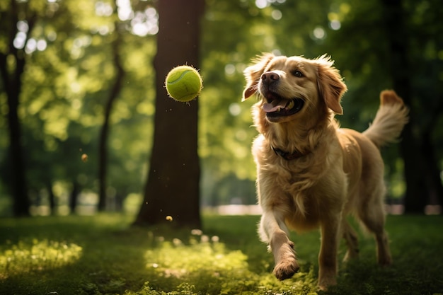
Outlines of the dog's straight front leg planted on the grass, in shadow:
[[328,216],[321,224],[321,248],[318,255],[318,286],[326,290],[336,284],[338,271],[337,251],[341,214]]

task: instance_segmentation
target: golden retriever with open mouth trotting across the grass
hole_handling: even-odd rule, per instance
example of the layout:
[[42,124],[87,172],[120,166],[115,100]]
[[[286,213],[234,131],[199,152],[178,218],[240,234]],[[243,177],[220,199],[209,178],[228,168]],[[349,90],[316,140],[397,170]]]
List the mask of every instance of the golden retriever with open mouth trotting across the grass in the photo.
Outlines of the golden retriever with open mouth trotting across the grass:
[[340,100],[347,91],[326,54],[317,59],[263,54],[248,66],[243,99],[256,94],[252,107],[258,137],[252,153],[257,166],[258,203],[263,210],[259,234],[275,258],[277,279],[299,270],[289,229],[320,227],[318,287],[336,284],[338,245],[345,259],[358,255],[352,214],[373,233],[379,265],[392,262],[384,230],[384,162],[380,147],[396,142],[408,122],[408,108],[394,91],[382,91],[369,128],[359,133],[339,127]]

